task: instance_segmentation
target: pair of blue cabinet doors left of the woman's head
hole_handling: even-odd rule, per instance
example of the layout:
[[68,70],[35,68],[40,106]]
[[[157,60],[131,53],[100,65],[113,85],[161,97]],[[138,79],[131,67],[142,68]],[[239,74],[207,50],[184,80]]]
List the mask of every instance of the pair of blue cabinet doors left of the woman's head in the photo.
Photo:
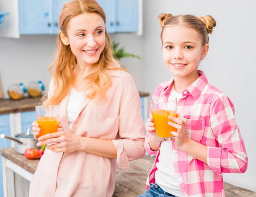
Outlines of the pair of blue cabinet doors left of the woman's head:
[[19,0],[20,34],[56,34],[58,18],[70,0]]

